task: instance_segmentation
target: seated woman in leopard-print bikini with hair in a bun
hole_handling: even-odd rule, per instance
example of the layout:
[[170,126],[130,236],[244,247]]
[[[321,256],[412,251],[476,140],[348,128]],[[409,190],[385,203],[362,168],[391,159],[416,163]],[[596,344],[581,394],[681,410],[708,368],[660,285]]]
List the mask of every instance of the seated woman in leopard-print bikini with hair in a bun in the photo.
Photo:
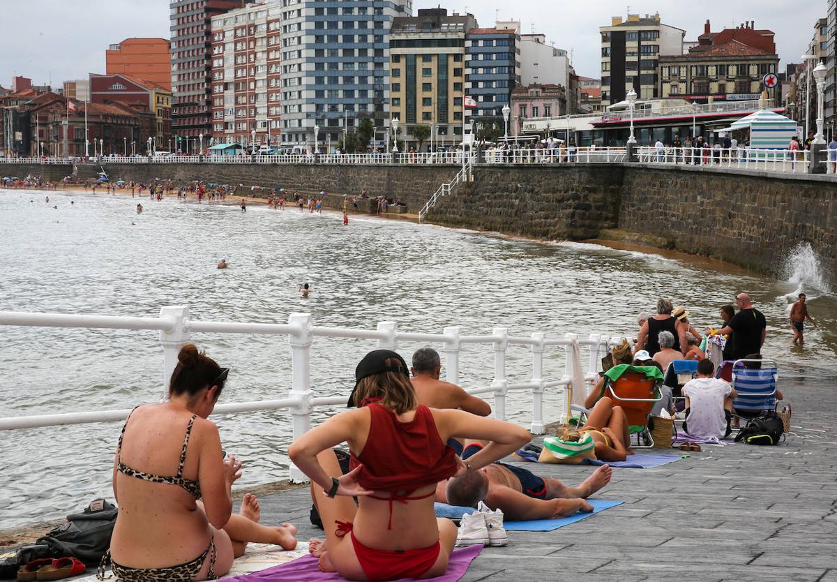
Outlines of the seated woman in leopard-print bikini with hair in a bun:
[[215,579],[248,542],[296,546],[292,525],[258,523],[252,495],[232,513],[231,487],[242,464],[225,460],[218,427],[207,420],[229,368],[191,344],[177,358],[167,402],[138,406],[122,427],[113,466],[119,517],[99,579],[109,559],[126,582]]

